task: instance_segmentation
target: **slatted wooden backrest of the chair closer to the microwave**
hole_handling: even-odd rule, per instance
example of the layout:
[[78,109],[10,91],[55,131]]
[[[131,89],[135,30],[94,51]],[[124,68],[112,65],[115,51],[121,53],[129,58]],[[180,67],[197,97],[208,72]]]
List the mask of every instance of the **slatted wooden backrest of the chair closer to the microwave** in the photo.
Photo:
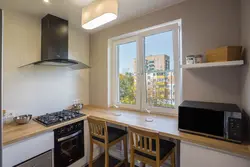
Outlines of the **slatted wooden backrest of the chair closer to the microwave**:
[[[156,156],[160,156],[160,140],[159,133],[146,131],[135,127],[129,127],[130,148],[140,152]],[[155,150],[153,150],[153,143]]]

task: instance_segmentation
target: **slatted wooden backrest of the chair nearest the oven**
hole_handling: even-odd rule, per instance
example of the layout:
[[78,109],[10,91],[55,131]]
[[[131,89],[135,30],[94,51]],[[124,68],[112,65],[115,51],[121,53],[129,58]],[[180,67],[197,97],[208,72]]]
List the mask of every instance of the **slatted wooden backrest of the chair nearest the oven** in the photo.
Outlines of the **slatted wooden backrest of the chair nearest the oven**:
[[90,136],[95,136],[106,141],[108,133],[106,121],[88,117],[88,123]]

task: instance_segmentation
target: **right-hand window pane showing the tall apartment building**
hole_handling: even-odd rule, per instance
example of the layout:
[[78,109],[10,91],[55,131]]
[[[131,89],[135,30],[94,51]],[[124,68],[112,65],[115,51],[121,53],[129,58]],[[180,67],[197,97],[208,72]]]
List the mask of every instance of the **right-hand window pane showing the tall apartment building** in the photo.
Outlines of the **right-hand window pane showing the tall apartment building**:
[[174,108],[172,31],[145,37],[146,100],[154,107]]

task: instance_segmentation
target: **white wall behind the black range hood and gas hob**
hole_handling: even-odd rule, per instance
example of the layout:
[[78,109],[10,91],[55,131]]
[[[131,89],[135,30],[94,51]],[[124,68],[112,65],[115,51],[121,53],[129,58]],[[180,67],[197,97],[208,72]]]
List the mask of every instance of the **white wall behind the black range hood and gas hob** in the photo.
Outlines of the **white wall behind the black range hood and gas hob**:
[[[41,18],[4,12],[3,109],[40,115],[89,104],[89,70],[21,65],[41,60]],[[89,64],[89,35],[69,28],[69,57]]]

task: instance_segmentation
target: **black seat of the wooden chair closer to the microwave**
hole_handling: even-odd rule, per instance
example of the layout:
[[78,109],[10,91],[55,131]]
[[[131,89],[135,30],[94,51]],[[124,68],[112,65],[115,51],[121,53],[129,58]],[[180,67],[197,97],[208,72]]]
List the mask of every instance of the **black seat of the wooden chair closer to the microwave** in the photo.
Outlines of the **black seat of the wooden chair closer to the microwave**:
[[[140,145],[140,141],[138,144]],[[147,146],[149,147],[149,140],[147,140]],[[174,147],[175,147],[175,144],[173,142],[160,139],[160,159],[162,160]],[[156,151],[156,141],[155,140],[152,140],[152,150]],[[138,150],[135,150],[135,154],[156,161],[155,156],[146,154],[144,152],[140,152]]]

